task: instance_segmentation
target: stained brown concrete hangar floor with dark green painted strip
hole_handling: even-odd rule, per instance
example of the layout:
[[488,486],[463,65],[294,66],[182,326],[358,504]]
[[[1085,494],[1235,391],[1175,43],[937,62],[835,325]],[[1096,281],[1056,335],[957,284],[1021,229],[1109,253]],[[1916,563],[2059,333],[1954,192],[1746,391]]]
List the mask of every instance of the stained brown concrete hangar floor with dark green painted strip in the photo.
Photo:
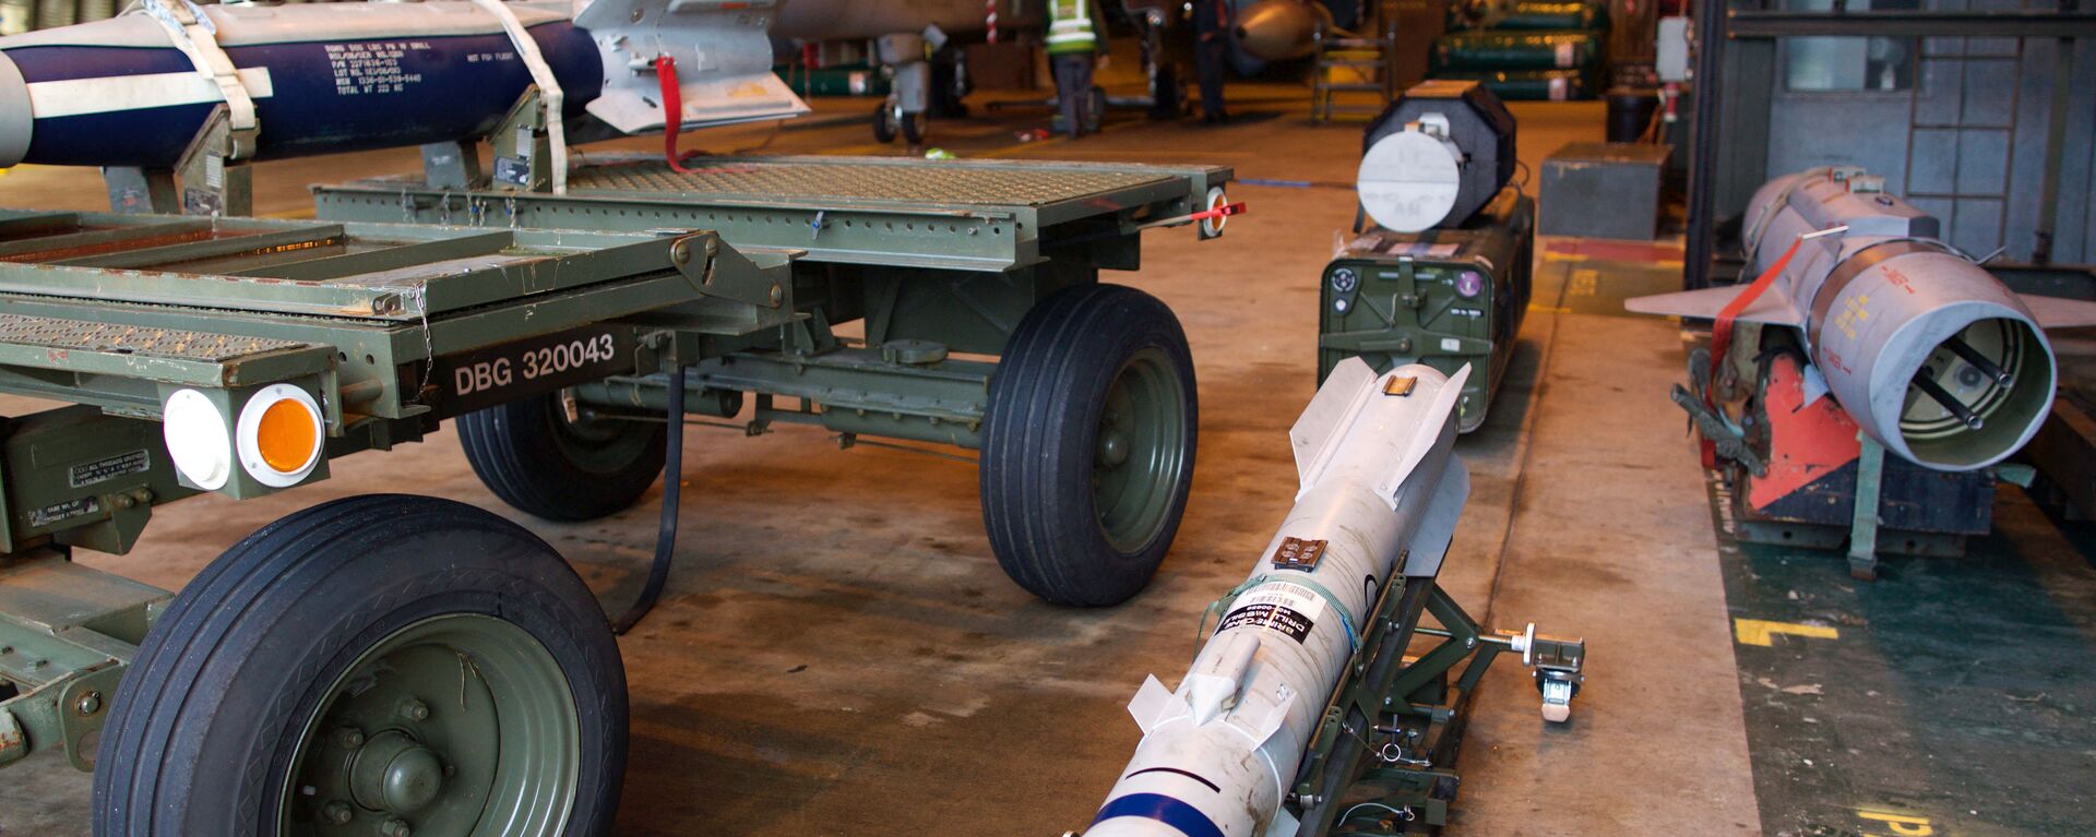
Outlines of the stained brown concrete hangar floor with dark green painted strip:
[[[941,122],[935,145],[1352,183],[1360,134],[1312,126],[1306,90],[1235,94],[1241,120],[1226,128],[1117,113],[1082,143],[1023,143],[1046,113],[1010,109]],[[826,101],[788,130],[685,145],[901,153],[870,145],[868,109]],[[1601,138],[1593,103],[1513,111],[1530,172],[1562,143]],[[413,166],[411,149],[264,164],[258,212],[310,214],[308,183]],[[1176,682],[1203,608],[1243,579],[1295,489],[1287,428],[1314,390],[1316,283],[1354,197],[1260,185],[1232,197],[1251,212],[1222,241],[1153,233],[1144,269],[1111,277],[1178,313],[1201,386],[1186,520],[1123,606],[1056,608],[1006,581],[970,464],[840,451],[801,426],[687,434],[675,575],[620,642],[633,694],[620,835],[1056,835],[1090,820],[1138,738],[1130,694],[1147,673]],[[101,180],[19,168],[0,178],[0,206],[101,210]],[[1473,495],[1442,583],[1486,625],[1536,621],[1585,636],[1595,657],[1559,728],[1536,717],[1520,667],[1492,669],[1450,831],[2079,833],[2096,795],[2096,730],[2073,722],[2096,703],[2096,537],[2006,489],[1997,535],[1968,558],[1895,560],[1876,585],[1849,581],[1832,554],[1733,545],[1666,403],[1683,334],[1620,315],[1624,296],[1668,289],[1675,271],[1679,248],[1545,241],[1509,382],[1457,445]],[[29,409],[0,399],[0,413]],[[658,491],[589,524],[526,518],[474,478],[449,430],[333,470],[260,501],[166,506],[132,554],[82,560],[178,589],[283,514],[409,489],[530,527],[608,608],[646,577]],[[1742,629],[1761,623],[1773,634]],[[8,772],[0,835],[86,835],[88,785],[71,770]]]

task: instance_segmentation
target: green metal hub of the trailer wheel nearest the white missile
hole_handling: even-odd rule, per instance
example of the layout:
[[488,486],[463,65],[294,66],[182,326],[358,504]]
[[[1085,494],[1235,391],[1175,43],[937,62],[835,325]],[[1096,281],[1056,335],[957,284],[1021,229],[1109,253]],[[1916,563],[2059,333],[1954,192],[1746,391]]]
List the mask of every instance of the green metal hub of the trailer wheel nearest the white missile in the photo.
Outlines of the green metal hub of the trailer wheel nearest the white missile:
[[1184,472],[1186,388],[1170,355],[1138,350],[1107,386],[1092,457],[1098,527],[1117,552],[1140,552],[1165,529]]

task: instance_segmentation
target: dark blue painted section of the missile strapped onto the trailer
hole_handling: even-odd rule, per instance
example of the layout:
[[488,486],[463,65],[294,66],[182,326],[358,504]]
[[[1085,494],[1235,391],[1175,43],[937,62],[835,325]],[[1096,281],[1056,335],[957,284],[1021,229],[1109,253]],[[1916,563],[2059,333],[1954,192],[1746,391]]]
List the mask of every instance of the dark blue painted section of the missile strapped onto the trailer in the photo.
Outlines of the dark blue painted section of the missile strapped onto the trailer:
[[[568,113],[604,88],[604,63],[572,23],[530,27],[566,92]],[[413,44],[413,46],[402,46]],[[329,52],[337,46],[337,52]],[[352,55],[346,59],[340,48]],[[371,65],[377,69],[352,69]],[[497,61],[497,57],[509,61]],[[256,159],[367,151],[472,138],[495,128],[530,71],[509,36],[302,40],[226,48],[235,67],[270,71],[272,94],[256,101],[262,124]],[[195,71],[182,52],[126,46],[23,46],[6,50],[23,80],[96,80]],[[381,84],[373,86],[371,80]],[[384,84],[392,82],[392,84]],[[52,166],[174,166],[212,103],[36,120],[25,162]]]

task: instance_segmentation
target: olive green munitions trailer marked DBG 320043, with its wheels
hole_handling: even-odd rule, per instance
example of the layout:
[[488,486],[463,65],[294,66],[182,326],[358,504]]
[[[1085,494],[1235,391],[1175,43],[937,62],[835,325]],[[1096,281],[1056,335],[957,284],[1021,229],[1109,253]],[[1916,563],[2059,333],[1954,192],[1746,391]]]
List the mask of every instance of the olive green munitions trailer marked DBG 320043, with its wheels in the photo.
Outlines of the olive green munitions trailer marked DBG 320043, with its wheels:
[[0,420],[0,764],[99,764],[103,835],[608,824],[612,627],[495,514],[331,501],[180,594],[69,560],[130,550],[157,503],[314,482],[444,420],[497,497],[551,520],[635,503],[679,468],[685,415],[746,399],[752,434],[977,449],[1006,573],[1119,602],[1178,529],[1197,401],[1172,313],[1098,271],[1136,269],[1151,227],[1218,235],[1228,176],[612,162],[566,195],[325,189],[327,220],[0,212],[0,392],[69,403]]

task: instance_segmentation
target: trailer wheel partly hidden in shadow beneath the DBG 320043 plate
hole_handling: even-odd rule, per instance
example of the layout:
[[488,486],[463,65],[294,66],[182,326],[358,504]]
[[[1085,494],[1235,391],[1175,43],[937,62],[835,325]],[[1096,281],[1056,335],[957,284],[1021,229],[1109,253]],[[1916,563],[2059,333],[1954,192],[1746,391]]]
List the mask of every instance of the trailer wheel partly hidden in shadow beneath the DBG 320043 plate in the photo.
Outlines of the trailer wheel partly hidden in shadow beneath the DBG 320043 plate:
[[641,499],[662,474],[664,441],[656,422],[576,430],[560,394],[547,392],[461,415],[459,447],[480,482],[518,512],[581,522]]

